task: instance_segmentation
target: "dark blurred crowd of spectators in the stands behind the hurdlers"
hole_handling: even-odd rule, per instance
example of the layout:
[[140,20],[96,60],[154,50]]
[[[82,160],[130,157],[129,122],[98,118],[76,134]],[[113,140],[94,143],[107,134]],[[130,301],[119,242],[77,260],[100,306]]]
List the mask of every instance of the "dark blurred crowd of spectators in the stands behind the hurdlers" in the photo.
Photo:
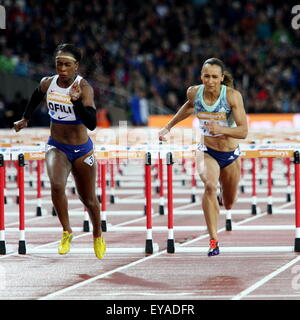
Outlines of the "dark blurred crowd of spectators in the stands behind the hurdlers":
[[[2,3],[8,23],[0,70],[40,80],[55,72],[56,46],[73,43],[83,51],[81,74],[97,105],[105,108],[109,90],[127,95],[134,124],[146,124],[150,102],[174,113],[209,57],[224,61],[248,113],[300,110],[300,29],[292,28],[288,1]],[[135,113],[137,103],[143,107]]]

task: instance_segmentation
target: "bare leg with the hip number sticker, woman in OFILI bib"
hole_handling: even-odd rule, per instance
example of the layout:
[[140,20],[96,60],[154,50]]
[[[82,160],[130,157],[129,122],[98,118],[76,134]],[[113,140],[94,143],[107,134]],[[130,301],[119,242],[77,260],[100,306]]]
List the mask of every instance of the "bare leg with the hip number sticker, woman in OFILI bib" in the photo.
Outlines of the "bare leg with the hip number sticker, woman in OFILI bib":
[[88,210],[93,225],[93,235],[100,237],[101,217],[100,204],[96,196],[96,169],[97,163],[91,151],[73,162],[72,173],[79,198]]

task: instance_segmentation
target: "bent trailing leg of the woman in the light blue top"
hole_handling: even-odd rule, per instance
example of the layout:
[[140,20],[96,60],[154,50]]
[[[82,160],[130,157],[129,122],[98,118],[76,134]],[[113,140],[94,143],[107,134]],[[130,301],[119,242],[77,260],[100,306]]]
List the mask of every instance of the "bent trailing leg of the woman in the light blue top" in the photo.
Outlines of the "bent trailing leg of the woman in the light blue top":
[[238,186],[241,177],[241,159],[238,158],[227,167],[221,169],[220,184],[222,188],[222,200],[225,209],[233,207],[237,200]]

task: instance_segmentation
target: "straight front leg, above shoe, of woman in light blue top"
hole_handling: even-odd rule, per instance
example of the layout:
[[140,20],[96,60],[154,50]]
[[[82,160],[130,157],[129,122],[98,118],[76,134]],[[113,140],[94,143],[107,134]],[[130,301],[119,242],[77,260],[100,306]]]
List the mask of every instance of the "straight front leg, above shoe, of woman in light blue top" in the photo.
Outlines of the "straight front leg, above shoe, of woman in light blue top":
[[218,217],[220,207],[217,201],[217,185],[220,167],[215,159],[207,153],[197,151],[196,163],[201,180],[204,183],[202,208],[210,239],[217,240]]

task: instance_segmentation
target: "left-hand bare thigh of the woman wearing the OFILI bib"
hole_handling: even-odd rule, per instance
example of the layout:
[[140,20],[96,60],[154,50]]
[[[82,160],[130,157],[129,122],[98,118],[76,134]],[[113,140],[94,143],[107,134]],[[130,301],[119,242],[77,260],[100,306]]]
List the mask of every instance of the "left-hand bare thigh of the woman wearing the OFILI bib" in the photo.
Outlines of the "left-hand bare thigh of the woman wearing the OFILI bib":
[[66,154],[57,148],[46,152],[46,166],[51,184],[66,184],[72,165]]

